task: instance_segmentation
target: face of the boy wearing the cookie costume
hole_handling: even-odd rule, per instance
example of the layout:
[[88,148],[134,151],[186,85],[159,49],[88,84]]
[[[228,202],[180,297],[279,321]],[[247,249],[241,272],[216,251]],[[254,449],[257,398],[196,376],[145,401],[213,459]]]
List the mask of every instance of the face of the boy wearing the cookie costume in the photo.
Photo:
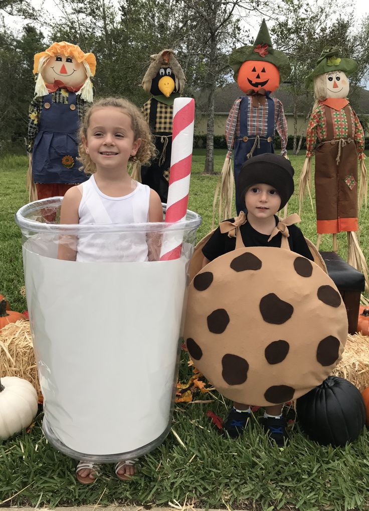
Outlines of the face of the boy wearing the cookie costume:
[[248,213],[256,218],[269,218],[279,211],[281,198],[277,190],[269,184],[253,184],[245,194]]

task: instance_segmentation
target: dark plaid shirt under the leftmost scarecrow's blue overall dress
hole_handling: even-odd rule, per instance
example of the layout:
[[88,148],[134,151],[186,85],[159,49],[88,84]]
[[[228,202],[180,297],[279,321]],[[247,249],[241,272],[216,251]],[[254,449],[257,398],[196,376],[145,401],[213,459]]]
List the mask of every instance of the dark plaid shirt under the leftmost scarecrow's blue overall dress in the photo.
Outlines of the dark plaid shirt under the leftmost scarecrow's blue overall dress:
[[[58,89],[52,92],[52,103],[68,104],[69,92],[67,89]],[[27,152],[32,153],[36,135],[39,130],[40,114],[44,104],[45,96],[36,96],[29,108],[28,112],[28,136],[27,136]],[[77,114],[80,121],[85,117],[85,112],[91,106],[91,103],[83,100],[79,94],[76,95]]]

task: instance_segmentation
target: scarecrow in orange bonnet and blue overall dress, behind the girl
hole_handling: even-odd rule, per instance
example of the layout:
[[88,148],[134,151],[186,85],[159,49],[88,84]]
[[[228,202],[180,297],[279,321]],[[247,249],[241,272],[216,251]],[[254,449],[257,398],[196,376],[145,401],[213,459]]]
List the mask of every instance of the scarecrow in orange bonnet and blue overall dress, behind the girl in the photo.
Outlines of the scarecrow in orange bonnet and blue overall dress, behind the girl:
[[27,150],[32,172],[29,182],[36,183],[38,199],[64,196],[68,188],[88,179],[77,161],[77,131],[93,100],[95,69],[92,53],[65,41],[35,55],[37,80],[29,111]]

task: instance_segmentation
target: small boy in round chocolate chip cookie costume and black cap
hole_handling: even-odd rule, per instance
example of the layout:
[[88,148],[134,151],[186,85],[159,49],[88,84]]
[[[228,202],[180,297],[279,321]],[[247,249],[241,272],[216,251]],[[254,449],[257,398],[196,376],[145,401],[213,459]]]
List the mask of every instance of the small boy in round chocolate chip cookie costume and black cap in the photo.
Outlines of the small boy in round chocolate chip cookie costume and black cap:
[[294,192],[293,175],[275,154],[245,162],[238,189],[247,217],[222,222],[203,247],[184,330],[197,369],[233,401],[228,434],[245,428],[250,404],[263,406],[263,427],[278,446],[286,439],[283,403],[329,375],[347,337],[343,302],[311,262],[298,215],[276,216]]

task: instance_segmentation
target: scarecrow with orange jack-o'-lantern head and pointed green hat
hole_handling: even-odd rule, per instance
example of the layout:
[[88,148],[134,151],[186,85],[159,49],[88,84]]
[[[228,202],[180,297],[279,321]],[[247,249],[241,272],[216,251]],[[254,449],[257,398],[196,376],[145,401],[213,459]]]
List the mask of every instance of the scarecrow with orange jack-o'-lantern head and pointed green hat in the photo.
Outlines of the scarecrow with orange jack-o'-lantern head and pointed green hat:
[[[257,154],[274,153],[275,130],[281,138],[281,155],[286,154],[287,121],[283,105],[279,99],[271,98],[270,94],[291,73],[287,56],[273,48],[265,19],[262,20],[254,44],[234,50],[229,57],[229,65],[233,69],[234,80],[246,96],[235,100],[226,122],[228,153],[222,171],[219,201],[219,216],[224,215],[226,218],[232,216],[232,150],[235,182],[248,158]],[[243,209],[244,205],[239,202],[236,190],[237,213]]]

